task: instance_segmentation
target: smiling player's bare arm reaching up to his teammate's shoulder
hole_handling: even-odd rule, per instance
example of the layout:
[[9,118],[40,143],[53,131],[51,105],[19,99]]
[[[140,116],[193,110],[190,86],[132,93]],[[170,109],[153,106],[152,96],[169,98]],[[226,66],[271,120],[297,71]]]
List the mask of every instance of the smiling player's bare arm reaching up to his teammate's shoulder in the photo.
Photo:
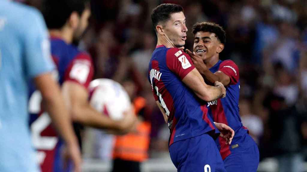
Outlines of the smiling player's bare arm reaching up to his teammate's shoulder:
[[224,86],[227,86],[230,83],[230,77],[223,73],[222,71],[217,71],[212,73],[208,67],[204,64],[204,61],[201,59],[200,55],[190,50],[186,50],[190,55],[195,68],[199,71],[204,80],[208,81],[209,84],[214,84],[216,81],[221,82]]

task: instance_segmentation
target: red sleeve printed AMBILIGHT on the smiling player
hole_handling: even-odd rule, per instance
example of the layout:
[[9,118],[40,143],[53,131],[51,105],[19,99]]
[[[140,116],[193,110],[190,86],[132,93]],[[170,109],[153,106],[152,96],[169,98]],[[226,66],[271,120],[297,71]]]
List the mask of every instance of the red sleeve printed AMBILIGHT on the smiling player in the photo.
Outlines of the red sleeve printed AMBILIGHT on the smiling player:
[[239,68],[232,60],[223,61],[220,64],[219,71],[225,73],[230,78],[229,85],[239,82]]

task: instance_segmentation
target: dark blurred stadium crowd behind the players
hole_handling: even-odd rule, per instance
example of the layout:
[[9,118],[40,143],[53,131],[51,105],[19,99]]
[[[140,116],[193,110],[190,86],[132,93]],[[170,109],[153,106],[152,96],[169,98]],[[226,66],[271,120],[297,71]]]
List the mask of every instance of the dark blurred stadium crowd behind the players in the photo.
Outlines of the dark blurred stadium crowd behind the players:
[[[41,8],[41,0],[21,2]],[[184,7],[189,29],[185,47],[190,50],[194,23],[212,21],[226,30],[220,58],[239,66],[240,115],[259,146],[258,171],[300,163],[307,171],[306,0],[91,0],[89,27],[79,47],[92,55],[95,78],[126,83],[131,94],[147,100],[150,158],[142,171],[176,171],[168,153],[169,131],[147,81],[156,45],[150,13],[160,3]],[[97,155],[95,132],[84,132],[83,170],[108,171],[111,161]]]

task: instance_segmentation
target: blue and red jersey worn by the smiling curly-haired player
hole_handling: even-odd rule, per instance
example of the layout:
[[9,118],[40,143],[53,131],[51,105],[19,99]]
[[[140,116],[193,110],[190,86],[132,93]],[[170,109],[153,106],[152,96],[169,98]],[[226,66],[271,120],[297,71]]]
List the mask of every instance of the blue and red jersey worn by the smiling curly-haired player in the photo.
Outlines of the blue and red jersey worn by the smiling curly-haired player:
[[232,139],[231,145],[225,144],[226,140],[222,137],[216,139],[217,147],[223,159],[235,151],[237,147],[247,147],[255,144],[248,135],[248,130],[242,125],[239,115],[239,68],[231,60],[217,62],[209,69],[212,73],[221,71],[230,78],[230,83],[225,86],[226,97],[208,102],[208,113],[215,122],[223,123],[230,126],[235,131],[235,136]]

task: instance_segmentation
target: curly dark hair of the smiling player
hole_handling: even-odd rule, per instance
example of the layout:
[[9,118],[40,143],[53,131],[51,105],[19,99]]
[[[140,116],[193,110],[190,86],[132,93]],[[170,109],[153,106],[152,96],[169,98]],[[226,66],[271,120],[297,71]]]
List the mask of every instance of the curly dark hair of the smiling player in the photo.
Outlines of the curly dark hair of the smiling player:
[[195,35],[197,32],[211,32],[215,33],[217,38],[220,40],[221,43],[225,44],[226,43],[226,32],[224,29],[212,22],[202,22],[202,23],[196,23],[193,25],[192,32]]

